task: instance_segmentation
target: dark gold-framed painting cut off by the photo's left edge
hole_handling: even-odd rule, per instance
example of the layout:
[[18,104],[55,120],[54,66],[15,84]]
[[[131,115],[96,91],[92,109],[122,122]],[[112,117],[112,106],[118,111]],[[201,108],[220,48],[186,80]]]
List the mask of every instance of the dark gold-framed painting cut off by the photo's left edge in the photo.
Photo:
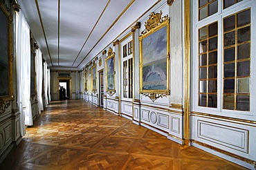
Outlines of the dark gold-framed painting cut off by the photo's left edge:
[[0,100],[13,100],[12,93],[12,16],[0,2]]

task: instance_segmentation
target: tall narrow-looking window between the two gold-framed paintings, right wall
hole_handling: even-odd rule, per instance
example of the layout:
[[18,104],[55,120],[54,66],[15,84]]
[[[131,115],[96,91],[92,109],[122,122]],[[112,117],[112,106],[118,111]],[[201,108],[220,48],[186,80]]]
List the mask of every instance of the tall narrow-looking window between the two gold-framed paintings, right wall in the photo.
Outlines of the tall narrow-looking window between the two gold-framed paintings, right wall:
[[[127,49],[128,47],[128,49]],[[122,79],[123,79],[123,97],[132,98],[133,96],[133,41],[129,41],[122,46]]]

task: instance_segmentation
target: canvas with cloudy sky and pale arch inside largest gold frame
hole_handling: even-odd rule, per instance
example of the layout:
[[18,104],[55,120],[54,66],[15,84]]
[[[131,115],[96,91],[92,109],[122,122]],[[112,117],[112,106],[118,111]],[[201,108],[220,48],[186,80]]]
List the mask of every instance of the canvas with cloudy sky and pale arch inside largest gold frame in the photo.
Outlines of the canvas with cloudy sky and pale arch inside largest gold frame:
[[167,90],[167,26],[142,40],[143,90]]

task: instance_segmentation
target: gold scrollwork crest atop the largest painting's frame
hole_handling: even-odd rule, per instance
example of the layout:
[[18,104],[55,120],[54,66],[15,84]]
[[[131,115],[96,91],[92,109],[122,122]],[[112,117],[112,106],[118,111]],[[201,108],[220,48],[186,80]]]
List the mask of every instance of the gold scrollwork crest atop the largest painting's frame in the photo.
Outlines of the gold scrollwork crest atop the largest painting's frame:
[[143,30],[141,34],[144,35],[159,24],[163,23],[163,21],[169,19],[167,15],[165,17],[162,17],[162,14],[162,11],[156,14],[154,12],[151,12],[151,14],[149,15],[149,19],[147,19],[147,22],[145,22],[145,30]]

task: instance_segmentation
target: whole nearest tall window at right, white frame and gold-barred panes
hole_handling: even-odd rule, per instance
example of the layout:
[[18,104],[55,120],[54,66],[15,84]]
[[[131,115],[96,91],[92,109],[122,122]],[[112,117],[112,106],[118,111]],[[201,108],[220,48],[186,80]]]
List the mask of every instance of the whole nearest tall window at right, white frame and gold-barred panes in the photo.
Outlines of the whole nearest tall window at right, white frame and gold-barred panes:
[[[193,71],[194,108],[200,111],[216,111],[248,114],[252,104],[251,68],[254,52],[251,37],[253,11],[250,0],[199,0],[194,14]],[[251,2],[251,3],[250,3]],[[212,3],[216,3],[217,15],[210,15]],[[246,3],[246,5],[244,5]],[[211,5],[212,4],[212,5]],[[241,6],[239,5],[241,4]],[[203,15],[203,8],[207,15]],[[215,8],[214,8],[215,9]],[[193,87],[194,87],[193,86]]]

